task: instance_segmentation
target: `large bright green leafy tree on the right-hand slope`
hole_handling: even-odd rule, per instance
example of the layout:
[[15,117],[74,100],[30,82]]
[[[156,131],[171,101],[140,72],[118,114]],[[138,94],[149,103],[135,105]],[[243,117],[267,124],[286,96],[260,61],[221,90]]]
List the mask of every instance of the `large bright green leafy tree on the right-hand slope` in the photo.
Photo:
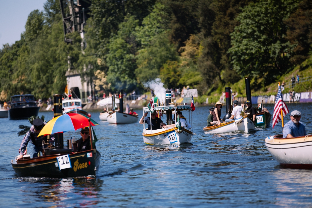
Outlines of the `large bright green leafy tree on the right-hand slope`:
[[267,84],[289,69],[294,45],[284,38],[287,26],[283,20],[296,5],[294,1],[261,0],[243,9],[228,51],[240,75],[264,78]]

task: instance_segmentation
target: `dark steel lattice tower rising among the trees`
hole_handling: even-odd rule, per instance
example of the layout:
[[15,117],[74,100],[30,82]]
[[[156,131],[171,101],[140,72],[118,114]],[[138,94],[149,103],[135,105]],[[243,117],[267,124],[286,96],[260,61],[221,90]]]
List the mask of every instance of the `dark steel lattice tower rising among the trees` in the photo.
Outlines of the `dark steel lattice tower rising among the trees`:
[[90,5],[90,0],[60,0],[65,42],[71,42],[71,39],[66,38],[66,34],[73,31],[79,32],[84,39],[83,27],[90,17],[88,14]]

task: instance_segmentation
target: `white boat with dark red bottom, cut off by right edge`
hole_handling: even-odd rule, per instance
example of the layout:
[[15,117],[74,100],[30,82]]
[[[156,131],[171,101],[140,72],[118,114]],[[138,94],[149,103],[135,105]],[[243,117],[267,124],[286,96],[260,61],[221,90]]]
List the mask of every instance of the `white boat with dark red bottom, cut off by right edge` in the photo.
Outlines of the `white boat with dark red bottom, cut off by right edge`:
[[283,167],[312,169],[312,135],[283,138],[283,135],[265,139],[266,148]]

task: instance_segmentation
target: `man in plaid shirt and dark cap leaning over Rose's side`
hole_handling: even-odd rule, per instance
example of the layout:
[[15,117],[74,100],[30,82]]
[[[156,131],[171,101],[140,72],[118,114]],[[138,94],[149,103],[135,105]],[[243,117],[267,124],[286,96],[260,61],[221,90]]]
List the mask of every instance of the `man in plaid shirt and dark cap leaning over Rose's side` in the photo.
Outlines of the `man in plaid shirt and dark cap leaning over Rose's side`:
[[[20,155],[17,157],[17,160],[23,158],[23,152],[27,147],[27,154],[30,155],[30,158],[40,156],[42,152],[42,141],[46,140],[46,137],[37,135],[40,133],[41,129],[44,127],[45,123],[41,119],[34,119],[32,122],[32,127],[26,133],[25,137],[22,140],[21,147],[19,149]],[[46,141],[45,141],[46,142]]]

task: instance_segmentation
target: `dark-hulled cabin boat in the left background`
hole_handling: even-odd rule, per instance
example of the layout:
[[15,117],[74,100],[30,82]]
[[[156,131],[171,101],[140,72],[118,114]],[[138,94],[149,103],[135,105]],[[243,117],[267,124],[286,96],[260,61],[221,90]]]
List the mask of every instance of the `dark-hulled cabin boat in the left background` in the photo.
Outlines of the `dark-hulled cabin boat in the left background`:
[[32,94],[13,95],[9,109],[9,119],[28,119],[31,116],[38,116],[40,107]]

